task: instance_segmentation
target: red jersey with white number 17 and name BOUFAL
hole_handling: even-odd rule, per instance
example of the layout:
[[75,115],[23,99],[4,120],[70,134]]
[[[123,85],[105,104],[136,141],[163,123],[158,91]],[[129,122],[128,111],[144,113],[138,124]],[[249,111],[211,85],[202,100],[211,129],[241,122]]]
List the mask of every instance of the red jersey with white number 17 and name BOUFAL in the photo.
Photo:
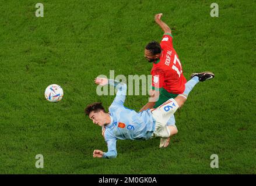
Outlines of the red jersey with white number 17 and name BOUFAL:
[[183,76],[180,60],[173,48],[172,35],[163,35],[160,46],[162,48],[160,61],[153,63],[151,70],[152,87],[164,88],[172,94],[182,94],[187,80]]

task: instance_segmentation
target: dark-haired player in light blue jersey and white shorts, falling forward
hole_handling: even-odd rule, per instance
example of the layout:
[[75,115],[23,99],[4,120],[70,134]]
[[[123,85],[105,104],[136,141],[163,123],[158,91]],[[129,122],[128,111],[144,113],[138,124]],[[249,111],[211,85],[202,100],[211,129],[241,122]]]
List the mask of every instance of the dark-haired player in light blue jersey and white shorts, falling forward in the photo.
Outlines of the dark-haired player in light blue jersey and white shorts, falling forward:
[[107,78],[96,78],[94,81],[100,85],[114,85],[117,94],[107,113],[101,103],[96,102],[88,105],[86,115],[94,124],[102,127],[102,135],[107,142],[108,151],[93,151],[93,158],[116,158],[117,140],[149,140],[150,138],[168,139],[178,133],[176,126],[167,126],[167,121],[178,108],[183,106],[187,96],[199,83],[214,77],[213,73],[193,73],[191,80],[185,84],[185,91],[176,98],[171,98],[155,109],[147,109],[142,112],[125,108],[124,101],[127,85]]

